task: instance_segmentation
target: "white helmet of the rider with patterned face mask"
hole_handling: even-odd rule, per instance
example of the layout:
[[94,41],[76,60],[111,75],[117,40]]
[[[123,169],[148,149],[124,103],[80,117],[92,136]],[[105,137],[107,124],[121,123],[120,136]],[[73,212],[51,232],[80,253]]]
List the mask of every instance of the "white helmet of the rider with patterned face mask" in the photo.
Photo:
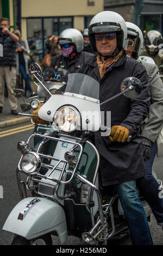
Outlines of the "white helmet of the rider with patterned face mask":
[[83,35],[78,29],[67,28],[59,35],[58,42],[62,44],[73,44],[76,48],[76,52],[82,52],[84,47]]

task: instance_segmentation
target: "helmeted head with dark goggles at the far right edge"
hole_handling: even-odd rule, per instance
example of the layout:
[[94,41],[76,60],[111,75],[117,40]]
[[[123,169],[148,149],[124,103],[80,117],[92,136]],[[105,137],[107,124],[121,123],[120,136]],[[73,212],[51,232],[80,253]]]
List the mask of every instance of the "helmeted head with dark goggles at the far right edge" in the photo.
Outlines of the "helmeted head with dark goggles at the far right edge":
[[160,32],[151,30],[145,34],[145,47],[150,54],[158,53],[159,45],[162,43],[162,35]]

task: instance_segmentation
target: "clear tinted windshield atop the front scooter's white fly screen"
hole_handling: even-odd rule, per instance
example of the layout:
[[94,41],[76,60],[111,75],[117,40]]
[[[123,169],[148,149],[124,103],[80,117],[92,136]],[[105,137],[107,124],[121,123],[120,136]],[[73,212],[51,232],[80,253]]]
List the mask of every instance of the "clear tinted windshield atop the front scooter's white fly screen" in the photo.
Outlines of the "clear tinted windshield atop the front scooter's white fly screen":
[[66,83],[65,93],[75,93],[99,99],[99,83],[90,76],[72,73],[62,77],[60,81]]

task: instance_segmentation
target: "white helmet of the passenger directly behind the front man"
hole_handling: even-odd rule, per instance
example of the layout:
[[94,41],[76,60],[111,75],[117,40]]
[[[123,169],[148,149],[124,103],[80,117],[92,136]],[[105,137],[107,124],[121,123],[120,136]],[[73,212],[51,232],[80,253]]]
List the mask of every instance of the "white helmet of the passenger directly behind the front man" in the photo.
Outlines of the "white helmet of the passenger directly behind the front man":
[[[137,59],[140,56],[143,48],[143,34],[141,32],[141,29],[131,22],[126,22],[126,26],[128,38],[133,39],[133,53],[131,57]],[[130,46],[129,40],[127,40],[126,42],[126,47],[127,46]]]

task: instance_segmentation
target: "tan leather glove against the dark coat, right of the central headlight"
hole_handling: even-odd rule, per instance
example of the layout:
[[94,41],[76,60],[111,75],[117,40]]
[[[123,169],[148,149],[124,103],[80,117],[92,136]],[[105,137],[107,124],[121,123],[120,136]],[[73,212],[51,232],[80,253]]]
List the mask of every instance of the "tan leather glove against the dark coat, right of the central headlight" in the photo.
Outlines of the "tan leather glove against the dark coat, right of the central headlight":
[[121,125],[114,125],[111,127],[110,141],[126,142],[130,132],[129,130]]

